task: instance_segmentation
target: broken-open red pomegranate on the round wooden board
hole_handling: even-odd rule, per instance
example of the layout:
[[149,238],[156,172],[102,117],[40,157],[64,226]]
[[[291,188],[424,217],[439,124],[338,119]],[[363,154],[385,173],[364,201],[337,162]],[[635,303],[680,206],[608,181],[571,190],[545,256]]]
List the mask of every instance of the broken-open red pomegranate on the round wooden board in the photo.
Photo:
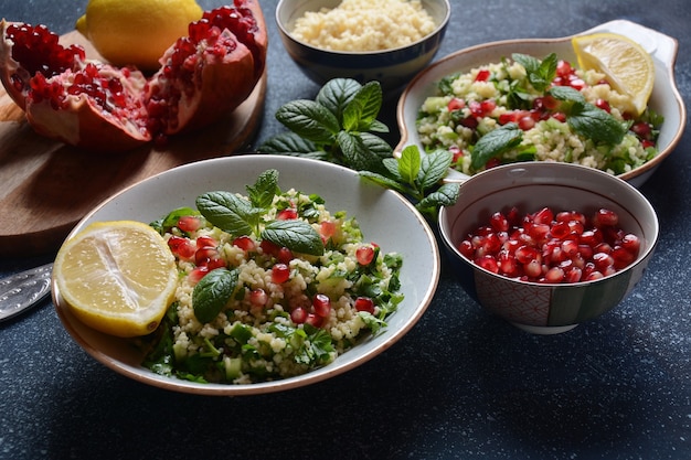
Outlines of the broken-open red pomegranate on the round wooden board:
[[266,61],[257,0],[204,13],[146,78],[136,68],[88,61],[45,26],[0,23],[0,79],[36,132],[104,151],[198,129],[252,94]]

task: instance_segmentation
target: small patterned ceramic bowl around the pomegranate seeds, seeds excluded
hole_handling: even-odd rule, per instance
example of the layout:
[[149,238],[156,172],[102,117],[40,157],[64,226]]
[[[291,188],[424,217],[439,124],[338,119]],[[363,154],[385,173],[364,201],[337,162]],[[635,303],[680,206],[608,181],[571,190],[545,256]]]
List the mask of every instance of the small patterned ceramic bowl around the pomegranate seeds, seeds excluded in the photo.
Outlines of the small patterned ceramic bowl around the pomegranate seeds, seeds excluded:
[[[554,212],[600,207],[619,215],[619,227],[641,239],[637,259],[608,277],[576,284],[538,284],[488,271],[458,250],[460,240],[497,211],[518,206],[522,214],[550,206]],[[525,162],[480,172],[460,186],[454,206],[439,212],[439,233],[456,276],[490,312],[533,333],[568,331],[615,308],[652,257],[659,237],[652,205],[632,185],[606,172],[568,163]]]

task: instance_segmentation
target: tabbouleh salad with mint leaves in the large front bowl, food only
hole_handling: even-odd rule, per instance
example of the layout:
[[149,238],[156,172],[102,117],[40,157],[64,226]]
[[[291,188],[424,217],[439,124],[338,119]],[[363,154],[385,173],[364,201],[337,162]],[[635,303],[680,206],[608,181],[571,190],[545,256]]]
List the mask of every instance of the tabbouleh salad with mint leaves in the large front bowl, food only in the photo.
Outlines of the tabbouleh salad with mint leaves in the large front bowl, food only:
[[281,192],[265,171],[247,196],[210,192],[152,223],[176,255],[174,302],[143,365],[194,382],[249,384],[332,362],[396,310],[402,258],[354,217]]

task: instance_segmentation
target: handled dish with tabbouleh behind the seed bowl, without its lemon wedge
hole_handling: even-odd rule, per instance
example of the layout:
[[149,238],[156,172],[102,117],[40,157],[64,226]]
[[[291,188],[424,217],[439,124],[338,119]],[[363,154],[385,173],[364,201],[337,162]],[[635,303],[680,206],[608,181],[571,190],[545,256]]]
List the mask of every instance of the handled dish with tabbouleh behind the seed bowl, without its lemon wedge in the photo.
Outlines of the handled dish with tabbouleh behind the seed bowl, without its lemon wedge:
[[[448,181],[498,164],[557,161],[640,186],[673,151],[685,126],[673,72],[678,45],[625,20],[575,36],[603,34],[636,42],[631,47],[650,56],[648,74],[655,75],[644,110],[603,73],[581,68],[573,36],[492,42],[443,57],[411,82],[397,106],[402,139],[394,150],[416,145],[421,151],[454,152]],[[553,79],[535,89],[550,66]]]

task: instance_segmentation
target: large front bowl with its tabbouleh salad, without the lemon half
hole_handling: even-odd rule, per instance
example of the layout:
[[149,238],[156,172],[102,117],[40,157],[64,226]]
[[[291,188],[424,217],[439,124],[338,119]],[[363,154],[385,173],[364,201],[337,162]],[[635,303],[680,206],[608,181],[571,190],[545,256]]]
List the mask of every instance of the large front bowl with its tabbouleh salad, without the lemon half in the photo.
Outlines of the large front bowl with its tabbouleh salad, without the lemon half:
[[176,392],[262,394],[352,370],[417,322],[439,278],[435,236],[414,206],[323,161],[245,154],[179,167],[110,197],[70,237],[124,220],[160,232],[174,256],[166,317],[148,335],[109,335],[77,319],[54,284],[57,315],[100,363]]

